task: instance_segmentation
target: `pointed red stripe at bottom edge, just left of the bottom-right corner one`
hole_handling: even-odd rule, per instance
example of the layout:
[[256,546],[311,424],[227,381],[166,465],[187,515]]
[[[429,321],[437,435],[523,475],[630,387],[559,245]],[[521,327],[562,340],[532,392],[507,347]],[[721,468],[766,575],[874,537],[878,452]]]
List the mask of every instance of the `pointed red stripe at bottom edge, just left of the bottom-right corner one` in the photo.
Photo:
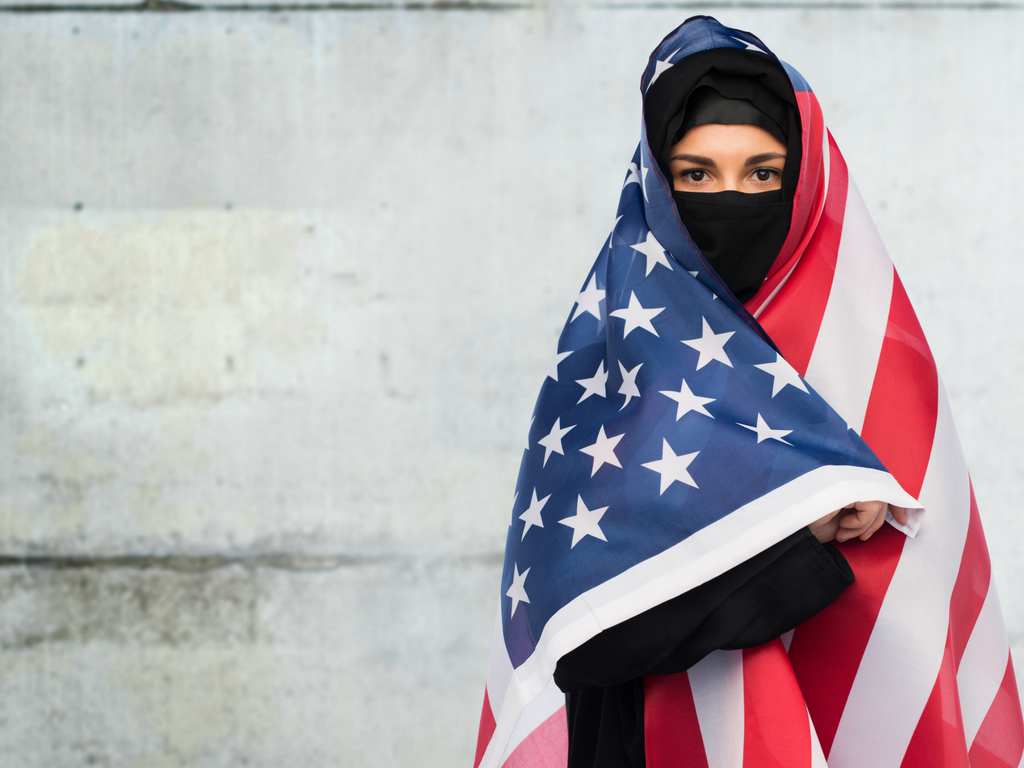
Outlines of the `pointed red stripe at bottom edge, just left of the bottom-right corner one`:
[[903,755],[902,768],[971,768],[951,644],[947,634],[938,678]]

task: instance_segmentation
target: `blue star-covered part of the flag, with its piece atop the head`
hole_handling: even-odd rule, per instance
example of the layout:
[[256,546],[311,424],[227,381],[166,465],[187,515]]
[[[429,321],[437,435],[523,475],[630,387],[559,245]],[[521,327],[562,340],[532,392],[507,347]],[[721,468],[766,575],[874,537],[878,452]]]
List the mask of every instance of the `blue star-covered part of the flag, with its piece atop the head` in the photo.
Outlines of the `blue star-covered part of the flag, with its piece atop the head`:
[[[743,45],[716,25],[681,30]],[[645,136],[617,213],[562,330],[516,484],[502,575],[515,667],[563,605],[764,494],[825,465],[884,470],[709,270]]]

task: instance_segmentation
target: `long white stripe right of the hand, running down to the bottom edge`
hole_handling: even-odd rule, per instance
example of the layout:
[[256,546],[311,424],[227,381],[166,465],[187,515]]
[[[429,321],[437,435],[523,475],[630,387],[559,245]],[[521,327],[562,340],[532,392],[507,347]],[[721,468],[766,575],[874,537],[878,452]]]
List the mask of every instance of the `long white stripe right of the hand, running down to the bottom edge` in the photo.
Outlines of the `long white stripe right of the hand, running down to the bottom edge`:
[[938,395],[921,492],[928,517],[903,546],[828,754],[830,768],[898,768],[942,664],[971,499],[941,381]]

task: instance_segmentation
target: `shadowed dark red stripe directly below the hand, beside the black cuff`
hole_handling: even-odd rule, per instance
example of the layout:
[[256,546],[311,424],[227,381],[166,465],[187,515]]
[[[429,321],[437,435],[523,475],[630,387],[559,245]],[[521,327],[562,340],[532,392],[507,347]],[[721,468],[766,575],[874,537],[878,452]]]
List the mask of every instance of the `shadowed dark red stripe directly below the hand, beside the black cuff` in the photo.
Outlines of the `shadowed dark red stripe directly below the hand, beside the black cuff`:
[[866,542],[837,544],[857,581],[793,633],[790,659],[826,757],[904,542],[884,525]]

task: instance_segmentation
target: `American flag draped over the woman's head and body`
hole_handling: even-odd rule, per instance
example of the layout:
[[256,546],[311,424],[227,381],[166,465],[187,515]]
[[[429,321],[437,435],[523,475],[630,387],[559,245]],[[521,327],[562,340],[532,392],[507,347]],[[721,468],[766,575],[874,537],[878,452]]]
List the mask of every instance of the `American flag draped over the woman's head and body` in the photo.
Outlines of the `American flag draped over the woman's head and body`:
[[[698,16],[698,50],[770,53]],[[854,501],[910,508],[840,545],[856,583],[787,636],[645,679],[647,763],[1014,767],[1024,725],[987,547],[924,334],[817,99],[790,236],[739,304],[646,135],[541,388],[508,530],[476,765],[564,766],[557,659]],[[685,760],[684,760],[685,756]],[[827,763],[826,763],[827,760]]]

